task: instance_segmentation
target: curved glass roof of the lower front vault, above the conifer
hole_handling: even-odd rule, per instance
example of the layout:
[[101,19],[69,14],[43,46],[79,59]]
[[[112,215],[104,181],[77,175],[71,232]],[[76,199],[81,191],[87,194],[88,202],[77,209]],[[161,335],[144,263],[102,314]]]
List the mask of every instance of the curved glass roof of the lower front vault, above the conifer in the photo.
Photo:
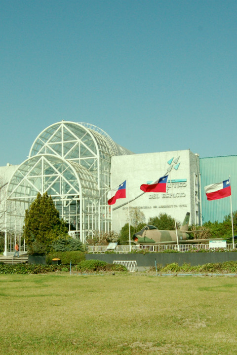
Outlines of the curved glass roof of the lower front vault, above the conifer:
[[23,162],[8,184],[8,198],[30,202],[37,193],[53,199],[67,196],[99,198],[95,178],[83,166],[55,155],[36,155]]

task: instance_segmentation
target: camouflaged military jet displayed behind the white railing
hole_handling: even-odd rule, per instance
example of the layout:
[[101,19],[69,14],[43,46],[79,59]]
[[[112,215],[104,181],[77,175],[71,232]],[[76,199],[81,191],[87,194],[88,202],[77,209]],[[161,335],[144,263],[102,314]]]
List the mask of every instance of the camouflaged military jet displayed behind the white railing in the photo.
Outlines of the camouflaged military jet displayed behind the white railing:
[[[178,243],[207,243],[210,239],[188,239],[190,233],[198,231],[189,231],[189,217],[190,213],[187,212],[184,218],[183,224],[180,229],[177,229]],[[200,231],[199,231],[200,232]],[[159,230],[152,225],[146,225],[145,227],[133,235],[132,241],[135,244],[177,244],[176,230]],[[214,239],[222,240],[222,238]]]

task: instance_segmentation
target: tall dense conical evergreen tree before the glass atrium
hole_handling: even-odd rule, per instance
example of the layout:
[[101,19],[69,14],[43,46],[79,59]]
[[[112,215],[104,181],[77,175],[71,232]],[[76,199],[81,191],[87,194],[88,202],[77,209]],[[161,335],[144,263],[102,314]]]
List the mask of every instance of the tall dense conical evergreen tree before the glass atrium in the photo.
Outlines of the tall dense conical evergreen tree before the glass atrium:
[[50,249],[50,244],[66,235],[66,223],[59,218],[51,196],[38,193],[29,210],[25,212],[23,237],[31,254],[43,253]]

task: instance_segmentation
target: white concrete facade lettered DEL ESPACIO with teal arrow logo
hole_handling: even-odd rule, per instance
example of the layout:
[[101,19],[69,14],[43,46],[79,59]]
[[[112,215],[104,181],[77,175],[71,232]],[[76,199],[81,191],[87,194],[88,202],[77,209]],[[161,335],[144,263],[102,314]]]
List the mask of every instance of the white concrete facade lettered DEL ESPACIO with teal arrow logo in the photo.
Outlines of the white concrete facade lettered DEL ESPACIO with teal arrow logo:
[[[166,193],[140,190],[141,184],[166,174],[169,174]],[[139,208],[145,214],[146,223],[159,213],[183,222],[187,212],[191,213],[190,223],[200,223],[199,156],[190,150],[112,157],[111,177],[112,187],[126,180],[126,199],[119,199],[111,206],[113,230],[119,232],[128,222],[128,204],[124,203],[131,200],[129,207]]]

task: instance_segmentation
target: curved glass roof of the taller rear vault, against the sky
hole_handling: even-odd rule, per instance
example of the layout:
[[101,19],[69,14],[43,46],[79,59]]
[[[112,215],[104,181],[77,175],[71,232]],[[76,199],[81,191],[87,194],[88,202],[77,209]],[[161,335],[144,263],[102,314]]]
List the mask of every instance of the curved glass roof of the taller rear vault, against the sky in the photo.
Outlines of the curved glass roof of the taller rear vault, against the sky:
[[88,169],[92,164],[91,159],[95,157],[125,155],[132,152],[113,142],[96,126],[62,121],[47,127],[36,138],[29,156],[37,154],[55,154],[79,164],[83,161],[82,165]]

